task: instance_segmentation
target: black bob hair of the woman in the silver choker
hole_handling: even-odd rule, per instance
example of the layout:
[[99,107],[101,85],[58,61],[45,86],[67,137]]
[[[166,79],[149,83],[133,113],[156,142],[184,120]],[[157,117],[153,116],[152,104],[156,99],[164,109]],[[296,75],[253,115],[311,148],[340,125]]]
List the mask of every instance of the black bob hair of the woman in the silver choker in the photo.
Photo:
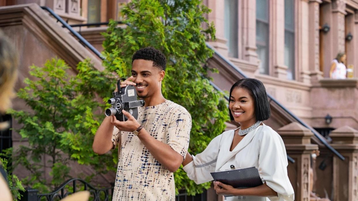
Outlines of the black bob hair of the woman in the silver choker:
[[[253,78],[244,78],[237,81],[234,85],[232,85],[230,89],[229,98],[231,98],[231,93],[235,88],[244,88],[250,93],[255,104],[256,121],[264,121],[270,118],[271,115],[270,104],[269,101],[267,100],[265,86],[263,86],[260,80],[253,79]],[[229,100],[229,104],[230,104],[230,100]],[[229,108],[229,115],[230,115],[230,119],[234,120],[230,108]]]

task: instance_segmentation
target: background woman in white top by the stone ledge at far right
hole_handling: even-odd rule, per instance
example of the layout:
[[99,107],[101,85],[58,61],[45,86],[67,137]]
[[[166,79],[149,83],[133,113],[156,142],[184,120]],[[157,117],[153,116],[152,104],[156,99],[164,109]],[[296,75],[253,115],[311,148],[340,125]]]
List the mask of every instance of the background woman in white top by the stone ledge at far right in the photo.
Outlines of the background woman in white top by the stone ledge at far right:
[[346,79],[347,78],[347,68],[344,63],[347,59],[347,56],[344,52],[338,53],[336,58],[333,59],[331,69],[329,70],[329,77],[333,79]]

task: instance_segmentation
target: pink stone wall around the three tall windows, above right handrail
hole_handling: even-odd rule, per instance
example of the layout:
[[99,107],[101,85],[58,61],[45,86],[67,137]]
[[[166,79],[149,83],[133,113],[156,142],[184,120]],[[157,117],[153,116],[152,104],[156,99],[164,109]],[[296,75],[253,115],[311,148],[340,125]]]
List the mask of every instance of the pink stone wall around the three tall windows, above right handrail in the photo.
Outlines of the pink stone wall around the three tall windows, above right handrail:
[[[260,0],[261,1],[261,0]],[[227,1],[208,0],[207,5],[212,9],[209,20],[216,24],[217,37],[222,39],[211,42],[222,55],[231,60],[249,77],[261,80],[267,91],[279,100],[295,115],[305,120],[313,127],[340,127],[347,122],[358,129],[358,115],[355,111],[357,104],[350,104],[347,110],[340,114],[334,113],[334,107],[345,107],[345,101],[358,98],[357,86],[352,86],[352,92],[344,92],[346,86],[341,82],[326,79],[332,60],[340,51],[347,54],[347,65],[353,65],[354,77],[350,81],[357,83],[358,71],[358,1],[354,0],[293,0],[294,10],[285,10],[285,0],[268,1],[269,10],[269,75],[260,74],[257,66],[260,60],[256,51],[256,2],[257,0],[238,1],[238,58],[227,57],[227,39],[223,26],[223,5]],[[285,12],[294,12],[295,31],[295,77],[286,77],[285,66]],[[221,14],[221,15],[220,15]],[[324,24],[330,26],[327,33],[321,30]],[[350,33],[353,39],[348,41]],[[218,44],[218,43],[222,44]],[[215,83],[225,83],[225,76],[215,76]],[[337,87],[323,86],[320,82],[331,82]],[[230,86],[223,86],[229,89]],[[355,85],[355,84],[352,84]],[[338,89],[339,88],[339,89]],[[343,89],[343,90],[340,90]],[[325,95],[323,95],[325,94]],[[348,98],[349,99],[345,99]],[[319,106],[318,106],[319,105]],[[350,111],[348,111],[350,110]],[[330,113],[330,111],[332,111]],[[334,125],[326,125],[324,117],[333,115]],[[333,114],[334,113],[334,114]],[[343,115],[344,114],[344,115]],[[343,117],[344,116],[344,117]],[[348,117],[349,116],[349,117]],[[344,120],[343,120],[344,119]],[[352,121],[352,123],[351,123]],[[355,123],[353,123],[355,122]],[[337,125],[336,125],[337,124]]]

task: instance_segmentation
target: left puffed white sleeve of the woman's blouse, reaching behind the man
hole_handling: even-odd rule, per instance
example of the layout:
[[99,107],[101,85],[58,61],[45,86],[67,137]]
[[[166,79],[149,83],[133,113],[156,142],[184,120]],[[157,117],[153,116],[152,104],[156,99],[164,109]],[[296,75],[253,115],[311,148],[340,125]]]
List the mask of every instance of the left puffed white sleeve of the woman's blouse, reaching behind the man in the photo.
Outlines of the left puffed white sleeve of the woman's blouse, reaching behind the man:
[[194,180],[195,184],[213,180],[210,172],[215,172],[221,137],[222,135],[216,136],[203,152],[196,156],[192,155],[193,161],[183,167],[189,179]]

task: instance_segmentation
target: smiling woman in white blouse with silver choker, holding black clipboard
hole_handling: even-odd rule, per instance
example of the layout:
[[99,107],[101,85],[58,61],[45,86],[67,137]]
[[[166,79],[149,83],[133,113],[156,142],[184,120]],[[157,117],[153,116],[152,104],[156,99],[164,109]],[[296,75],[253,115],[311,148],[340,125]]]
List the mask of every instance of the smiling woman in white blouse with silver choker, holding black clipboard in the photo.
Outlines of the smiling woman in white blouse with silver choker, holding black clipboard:
[[270,117],[265,87],[256,79],[237,81],[230,90],[230,119],[241,127],[223,132],[196,156],[187,153],[183,169],[196,184],[213,180],[210,172],[256,167],[263,185],[234,189],[214,182],[219,195],[233,195],[226,200],[294,200],[294,191],[287,176],[287,155],[277,132],[261,121]]

